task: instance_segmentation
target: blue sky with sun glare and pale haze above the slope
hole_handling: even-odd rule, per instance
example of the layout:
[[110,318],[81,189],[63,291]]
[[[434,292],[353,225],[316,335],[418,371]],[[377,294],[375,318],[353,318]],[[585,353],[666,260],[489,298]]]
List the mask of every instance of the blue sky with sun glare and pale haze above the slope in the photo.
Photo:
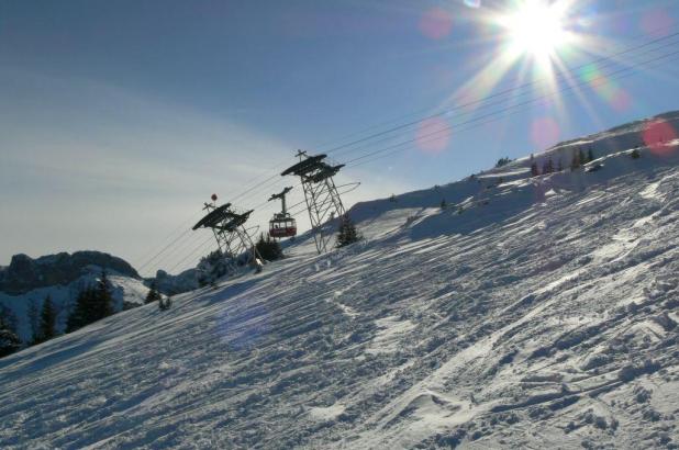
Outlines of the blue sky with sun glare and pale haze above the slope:
[[297,149],[350,205],[677,110],[676,33],[671,0],[0,0],[0,266],[178,272],[212,193],[266,227]]

